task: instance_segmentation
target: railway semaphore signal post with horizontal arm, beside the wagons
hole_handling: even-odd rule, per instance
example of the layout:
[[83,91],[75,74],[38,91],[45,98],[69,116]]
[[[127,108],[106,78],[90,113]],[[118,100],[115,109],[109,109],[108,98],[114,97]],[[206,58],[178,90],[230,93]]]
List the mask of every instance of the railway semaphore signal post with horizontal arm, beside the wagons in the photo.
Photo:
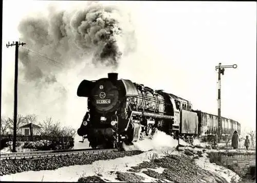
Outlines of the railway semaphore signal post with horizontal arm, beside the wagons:
[[222,118],[221,118],[221,74],[224,75],[225,68],[236,68],[237,65],[222,65],[219,63],[215,66],[215,70],[218,69],[218,142],[222,137]]

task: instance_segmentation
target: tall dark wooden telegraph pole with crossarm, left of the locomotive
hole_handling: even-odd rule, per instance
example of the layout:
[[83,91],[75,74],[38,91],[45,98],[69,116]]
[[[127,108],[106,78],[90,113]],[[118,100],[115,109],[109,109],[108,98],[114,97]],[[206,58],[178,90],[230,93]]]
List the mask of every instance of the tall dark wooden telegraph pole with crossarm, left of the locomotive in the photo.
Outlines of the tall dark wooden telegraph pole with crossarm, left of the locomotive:
[[15,45],[15,74],[14,74],[14,113],[13,113],[13,141],[12,141],[12,152],[16,152],[16,131],[17,131],[17,86],[18,86],[18,54],[19,54],[19,46],[25,45],[26,43],[12,42],[10,44],[6,44],[6,47]]

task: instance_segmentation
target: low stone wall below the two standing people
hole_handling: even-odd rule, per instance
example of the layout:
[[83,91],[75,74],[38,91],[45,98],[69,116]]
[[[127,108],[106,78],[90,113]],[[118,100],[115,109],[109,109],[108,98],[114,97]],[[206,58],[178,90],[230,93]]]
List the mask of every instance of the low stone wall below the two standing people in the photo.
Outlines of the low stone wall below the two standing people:
[[222,164],[240,177],[251,176],[251,167],[255,168],[255,151],[209,152],[210,162]]

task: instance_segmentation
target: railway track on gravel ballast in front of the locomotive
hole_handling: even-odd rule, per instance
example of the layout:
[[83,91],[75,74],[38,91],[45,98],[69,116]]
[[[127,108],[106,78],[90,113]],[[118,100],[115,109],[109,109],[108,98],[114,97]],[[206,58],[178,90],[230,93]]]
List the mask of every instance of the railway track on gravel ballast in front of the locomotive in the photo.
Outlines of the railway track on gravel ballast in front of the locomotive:
[[103,152],[117,152],[118,149],[78,149],[78,150],[57,150],[57,151],[32,151],[19,153],[5,153],[0,155],[0,160],[8,159],[35,159],[42,157],[67,156],[77,154],[99,154]]

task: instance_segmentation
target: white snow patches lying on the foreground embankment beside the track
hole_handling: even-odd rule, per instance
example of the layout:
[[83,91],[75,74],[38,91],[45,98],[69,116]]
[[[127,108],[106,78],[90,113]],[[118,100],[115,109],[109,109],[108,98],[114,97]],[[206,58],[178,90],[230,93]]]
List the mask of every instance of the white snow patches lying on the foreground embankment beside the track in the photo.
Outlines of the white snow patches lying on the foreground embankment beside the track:
[[[200,150],[200,149],[199,149]],[[159,148],[158,150],[144,152],[135,156],[126,156],[123,158],[116,158],[112,160],[99,160],[93,162],[93,164],[85,164],[85,165],[76,165],[69,167],[62,167],[57,170],[43,170],[43,171],[28,171],[22,173],[16,173],[11,175],[4,175],[0,177],[1,181],[78,181],[81,176],[93,176],[97,174],[101,174],[105,181],[109,182],[120,182],[116,178],[115,172],[126,172],[131,167],[136,166],[142,161],[150,161],[150,157],[157,153],[158,157],[162,157],[166,155],[166,153],[171,153],[175,155],[180,155],[183,152],[174,151],[174,148]],[[210,163],[209,159],[206,157],[206,153],[204,153],[204,157],[196,159],[195,162],[197,165],[205,170],[213,174],[218,174],[219,176],[224,177],[228,182],[231,182],[232,179],[238,180],[240,177],[228,170],[224,167],[217,166],[215,163]],[[156,181],[155,178],[149,177],[148,175],[142,173],[146,169],[142,169],[139,173],[135,173],[136,175],[140,175],[144,177],[144,182],[152,182]],[[152,169],[159,173],[163,172],[163,168]],[[168,180],[166,180],[168,181]],[[168,181],[169,182],[169,181]]]

